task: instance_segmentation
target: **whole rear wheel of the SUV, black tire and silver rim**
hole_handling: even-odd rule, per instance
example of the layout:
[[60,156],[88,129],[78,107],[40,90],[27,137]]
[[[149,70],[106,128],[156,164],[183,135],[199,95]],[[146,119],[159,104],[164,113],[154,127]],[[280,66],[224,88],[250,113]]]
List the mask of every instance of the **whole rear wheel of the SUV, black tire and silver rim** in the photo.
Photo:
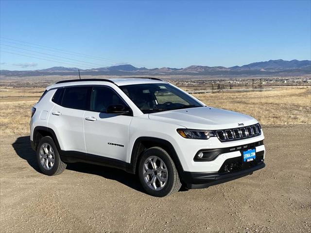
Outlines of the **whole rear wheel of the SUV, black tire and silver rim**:
[[41,138],[36,157],[38,166],[43,174],[58,175],[66,169],[66,164],[60,159],[56,145],[50,136]]

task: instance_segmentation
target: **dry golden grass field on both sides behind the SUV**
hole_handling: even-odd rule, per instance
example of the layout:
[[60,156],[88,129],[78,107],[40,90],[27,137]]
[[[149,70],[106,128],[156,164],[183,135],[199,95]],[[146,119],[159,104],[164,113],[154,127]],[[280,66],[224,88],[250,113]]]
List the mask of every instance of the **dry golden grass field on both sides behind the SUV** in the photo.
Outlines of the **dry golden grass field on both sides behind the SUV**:
[[[0,135],[29,133],[31,107],[44,88],[0,87]],[[261,124],[311,124],[311,89],[195,94],[207,105],[254,116]]]

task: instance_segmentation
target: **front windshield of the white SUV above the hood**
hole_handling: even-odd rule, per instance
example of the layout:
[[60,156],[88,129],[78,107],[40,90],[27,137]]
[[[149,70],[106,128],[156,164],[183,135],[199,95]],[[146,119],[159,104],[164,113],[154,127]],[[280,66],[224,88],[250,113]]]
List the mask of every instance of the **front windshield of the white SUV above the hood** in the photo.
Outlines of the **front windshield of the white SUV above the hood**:
[[120,88],[143,113],[203,107],[200,102],[169,83],[134,84]]

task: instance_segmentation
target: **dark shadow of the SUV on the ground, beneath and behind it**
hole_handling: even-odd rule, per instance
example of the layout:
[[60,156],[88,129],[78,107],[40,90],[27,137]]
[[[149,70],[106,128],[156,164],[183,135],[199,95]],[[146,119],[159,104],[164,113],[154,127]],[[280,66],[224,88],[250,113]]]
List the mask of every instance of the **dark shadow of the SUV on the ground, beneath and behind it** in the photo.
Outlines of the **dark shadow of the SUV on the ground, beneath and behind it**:
[[[16,141],[12,144],[12,146],[20,158],[26,160],[33,169],[41,173],[39,166],[36,162],[35,151],[31,148],[30,145],[30,136],[18,137]],[[124,185],[133,188],[139,192],[144,192],[136,175],[127,173],[117,168],[110,168],[85,163],[72,163],[68,164],[66,169],[102,176],[106,179],[115,180],[123,183]]]

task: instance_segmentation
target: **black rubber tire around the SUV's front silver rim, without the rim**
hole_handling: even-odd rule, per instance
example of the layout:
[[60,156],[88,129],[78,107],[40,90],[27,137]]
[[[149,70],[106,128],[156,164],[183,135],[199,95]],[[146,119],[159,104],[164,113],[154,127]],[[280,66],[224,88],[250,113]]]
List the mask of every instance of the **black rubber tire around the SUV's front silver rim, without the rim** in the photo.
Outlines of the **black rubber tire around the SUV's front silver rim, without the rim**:
[[[152,156],[160,158],[167,168],[167,182],[161,190],[152,189],[144,180],[144,163],[147,158]],[[178,172],[171,156],[160,147],[152,147],[143,152],[138,164],[138,176],[145,191],[154,197],[165,197],[171,195],[174,192],[177,192],[181,187]]]

